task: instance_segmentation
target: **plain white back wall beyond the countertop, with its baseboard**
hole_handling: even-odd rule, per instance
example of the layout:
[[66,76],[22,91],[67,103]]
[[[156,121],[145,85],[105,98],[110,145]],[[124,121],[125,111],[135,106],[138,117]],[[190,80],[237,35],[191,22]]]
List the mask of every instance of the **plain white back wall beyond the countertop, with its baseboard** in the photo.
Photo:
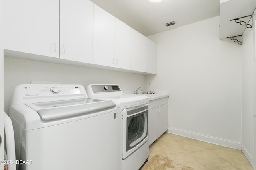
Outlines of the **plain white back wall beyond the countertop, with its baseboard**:
[[152,35],[157,75],[152,89],[169,89],[169,132],[241,148],[242,47],[219,40],[219,17]]

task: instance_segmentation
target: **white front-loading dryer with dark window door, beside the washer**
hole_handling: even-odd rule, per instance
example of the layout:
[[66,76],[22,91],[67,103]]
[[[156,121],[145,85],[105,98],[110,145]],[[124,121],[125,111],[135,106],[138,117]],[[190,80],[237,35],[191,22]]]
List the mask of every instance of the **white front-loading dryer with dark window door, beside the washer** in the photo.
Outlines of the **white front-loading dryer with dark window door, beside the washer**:
[[112,100],[118,105],[119,170],[138,170],[148,158],[148,97],[123,94],[118,85],[90,84],[90,98]]

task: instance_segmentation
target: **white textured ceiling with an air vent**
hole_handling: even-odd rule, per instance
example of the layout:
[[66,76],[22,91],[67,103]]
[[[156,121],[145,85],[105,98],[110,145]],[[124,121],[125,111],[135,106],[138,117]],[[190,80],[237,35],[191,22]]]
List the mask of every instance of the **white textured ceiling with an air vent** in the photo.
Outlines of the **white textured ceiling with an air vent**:
[[[91,0],[145,36],[220,14],[220,0]],[[165,23],[176,20],[175,25]]]

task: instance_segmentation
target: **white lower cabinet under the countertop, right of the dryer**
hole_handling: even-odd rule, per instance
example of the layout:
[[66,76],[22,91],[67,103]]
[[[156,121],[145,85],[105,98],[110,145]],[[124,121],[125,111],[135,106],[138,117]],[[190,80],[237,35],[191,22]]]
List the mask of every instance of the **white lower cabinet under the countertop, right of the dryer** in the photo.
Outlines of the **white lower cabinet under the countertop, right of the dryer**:
[[152,144],[168,129],[167,97],[149,102],[148,111],[148,143]]

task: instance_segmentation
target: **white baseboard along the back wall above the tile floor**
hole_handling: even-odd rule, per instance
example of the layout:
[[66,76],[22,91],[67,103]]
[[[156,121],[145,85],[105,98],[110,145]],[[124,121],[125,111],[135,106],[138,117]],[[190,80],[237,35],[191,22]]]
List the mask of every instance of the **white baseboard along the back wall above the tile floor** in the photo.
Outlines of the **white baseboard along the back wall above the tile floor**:
[[200,133],[195,133],[195,132],[190,132],[190,131],[184,131],[182,129],[176,129],[176,128],[172,128],[172,127],[169,127],[167,132],[173,133],[175,135],[180,135],[180,136],[196,139],[199,141],[204,141],[204,142],[208,142],[208,143],[212,143],[212,144],[216,144],[216,145],[221,145],[224,147],[230,147],[230,148],[241,150],[241,142],[240,141],[232,141],[232,140],[228,140],[228,139],[212,137],[212,136],[203,135]]

